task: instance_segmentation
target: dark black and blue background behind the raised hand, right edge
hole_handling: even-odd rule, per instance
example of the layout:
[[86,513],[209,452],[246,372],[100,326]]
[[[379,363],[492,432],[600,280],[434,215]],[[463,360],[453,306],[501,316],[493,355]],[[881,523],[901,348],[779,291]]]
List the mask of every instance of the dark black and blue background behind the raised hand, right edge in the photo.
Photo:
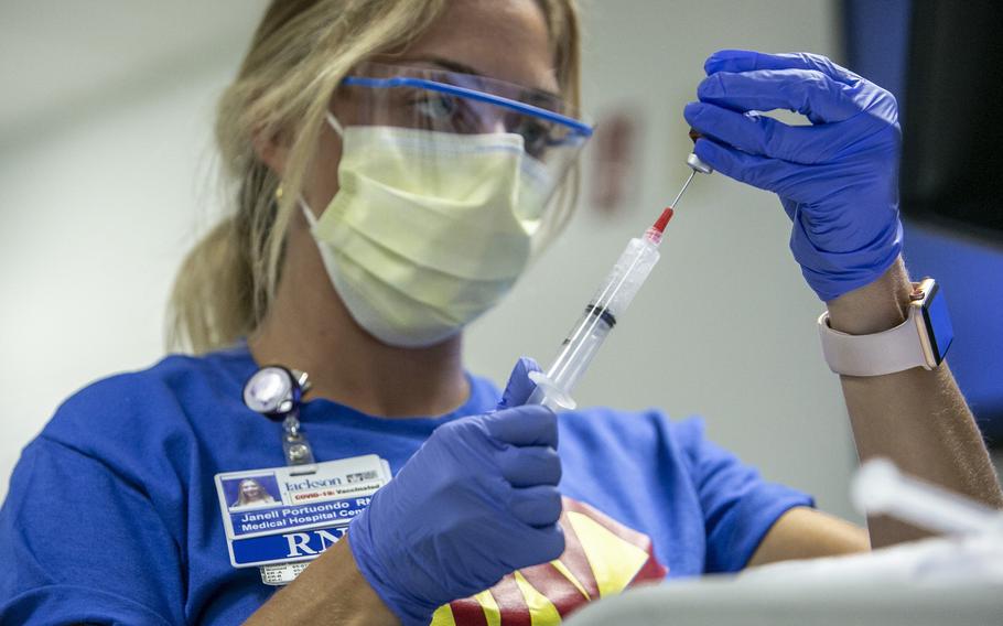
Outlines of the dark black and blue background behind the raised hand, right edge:
[[914,279],[947,294],[948,354],[991,446],[1003,446],[1003,2],[844,0],[848,63],[895,94]]

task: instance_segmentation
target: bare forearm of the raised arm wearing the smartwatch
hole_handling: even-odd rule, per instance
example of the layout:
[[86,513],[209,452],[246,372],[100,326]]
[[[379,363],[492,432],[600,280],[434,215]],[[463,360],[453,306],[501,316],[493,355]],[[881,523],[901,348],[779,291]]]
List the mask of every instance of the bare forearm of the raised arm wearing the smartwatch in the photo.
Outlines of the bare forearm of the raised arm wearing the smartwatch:
[[[886,331],[906,319],[912,284],[902,260],[875,282],[829,302],[830,325],[850,334]],[[903,472],[992,507],[1003,496],[982,436],[947,363],[874,377],[842,376],[861,460],[886,456]],[[878,548],[923,533],[888,518],[869,520]]]

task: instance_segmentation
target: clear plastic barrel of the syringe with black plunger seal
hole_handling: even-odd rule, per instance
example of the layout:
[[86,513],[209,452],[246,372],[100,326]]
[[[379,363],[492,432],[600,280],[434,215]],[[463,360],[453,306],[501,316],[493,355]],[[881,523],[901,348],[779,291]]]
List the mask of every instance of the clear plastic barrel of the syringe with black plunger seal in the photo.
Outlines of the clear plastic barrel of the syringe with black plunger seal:
[[630,305],[658,259],[657,241],[638,237],[627,242],[613,270],[589,301],[581,319],[564,338],[561,352],[547,369],[548,378],[564,395],[571,395],[572,388],[585,374],[610,331],[616,325],[617,317]]

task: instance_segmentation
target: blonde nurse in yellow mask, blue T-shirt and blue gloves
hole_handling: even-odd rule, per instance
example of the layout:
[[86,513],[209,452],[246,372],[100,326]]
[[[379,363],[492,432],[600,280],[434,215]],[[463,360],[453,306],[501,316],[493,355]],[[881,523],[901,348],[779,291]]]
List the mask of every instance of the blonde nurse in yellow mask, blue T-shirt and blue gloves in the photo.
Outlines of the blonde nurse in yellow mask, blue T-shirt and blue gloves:
[[[567,217],[591,133],[579,69],[573,0],[273,2],[218,110],[233,213],[174,291],[201,356],[94,384],[24,450],[0,512],[0,620],[556,624],[634,584],[916,537],[813,510],[699,421],[557,417],[520,406],[531,361],[503,393],[464,370],[463,326]],[[707,72],[684,111],[700,158],[780,196],[833,331],[898,325],[893,98],[810,55],[726,51]],[[773,108],[816,126],[744,115]],[[320,554],[279,593],[233,566],[215,477],[238,473],[231,498],[241,472],[258,498],[339,483],[270,470],[282,427],[241,401],[266,364],[310,374],[299,417],[319,462],[393,474],[347,533],[289,538]],[[843,389],[862,455],[1000,505],[946,365]]]

